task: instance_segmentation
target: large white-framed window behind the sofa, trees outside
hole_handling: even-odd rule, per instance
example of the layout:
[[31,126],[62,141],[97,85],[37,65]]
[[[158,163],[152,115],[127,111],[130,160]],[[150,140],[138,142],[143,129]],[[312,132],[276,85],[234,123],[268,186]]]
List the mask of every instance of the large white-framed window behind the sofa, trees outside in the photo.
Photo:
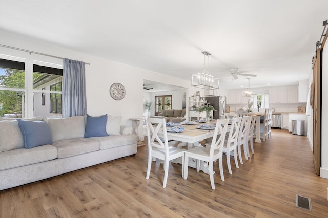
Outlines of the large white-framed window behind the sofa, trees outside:
[[[36,63],[39,62],[15,57],[9,60],[8,56],[0,54],[0,116],[61,116],[63,66]],[[50,86],[57,83],[60,83],[60,91],[52,91]],[[55,86],[54,90],[58,89]],[[50,105],[53,93],[56,103]],[[50,113],[53,108],[54,112]]]

